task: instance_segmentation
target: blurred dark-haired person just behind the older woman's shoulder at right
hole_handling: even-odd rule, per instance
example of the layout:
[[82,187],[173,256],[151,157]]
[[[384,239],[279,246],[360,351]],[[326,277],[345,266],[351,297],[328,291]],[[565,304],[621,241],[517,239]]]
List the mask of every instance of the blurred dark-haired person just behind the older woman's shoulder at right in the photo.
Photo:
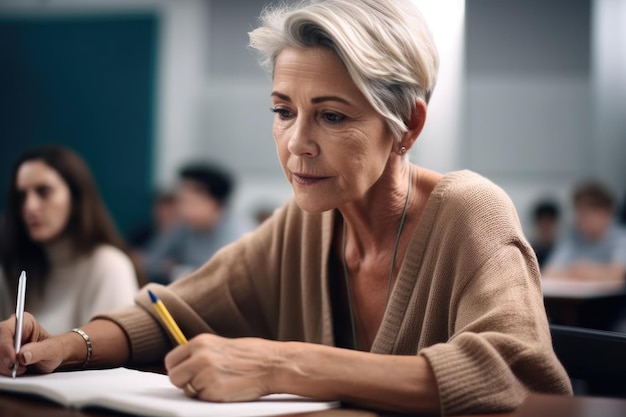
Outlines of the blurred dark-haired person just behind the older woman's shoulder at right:
[[544,266],[558,240],[559,219],[559,205],[554,201],[540,201],[533,209],[534,236],[531,245],[540,267]]

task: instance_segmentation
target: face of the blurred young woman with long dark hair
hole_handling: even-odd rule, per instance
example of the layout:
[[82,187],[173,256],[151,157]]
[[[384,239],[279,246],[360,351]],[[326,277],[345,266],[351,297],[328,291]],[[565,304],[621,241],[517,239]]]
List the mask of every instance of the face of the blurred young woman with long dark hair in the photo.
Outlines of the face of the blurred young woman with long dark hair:
[[17,171],[16,187],[30,238],[49,243],[60,237],[70,217],[72,198],[59,173],[41,160],[26,161]]

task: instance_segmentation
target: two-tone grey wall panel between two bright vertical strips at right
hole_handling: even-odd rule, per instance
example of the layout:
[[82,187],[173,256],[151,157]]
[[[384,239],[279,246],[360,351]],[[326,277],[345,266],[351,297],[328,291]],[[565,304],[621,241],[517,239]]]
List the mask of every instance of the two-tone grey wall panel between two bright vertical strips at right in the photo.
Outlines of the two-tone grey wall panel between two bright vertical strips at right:
[[594,172],[589,14],[588,0],[467,4],[463,163],[509,193],[527,230],[536,200],[567,207]]

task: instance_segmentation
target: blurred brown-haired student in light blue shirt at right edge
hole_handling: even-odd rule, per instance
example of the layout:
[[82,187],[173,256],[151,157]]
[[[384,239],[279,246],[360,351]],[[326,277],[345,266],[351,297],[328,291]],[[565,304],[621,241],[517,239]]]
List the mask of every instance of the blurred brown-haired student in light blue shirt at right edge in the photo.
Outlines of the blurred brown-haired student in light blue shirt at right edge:
[[614,221],[615,203],[602,185],[588,182],[573,195],[575,228],[559,242],[544,275],[580,280],[626,277],[626,231]]

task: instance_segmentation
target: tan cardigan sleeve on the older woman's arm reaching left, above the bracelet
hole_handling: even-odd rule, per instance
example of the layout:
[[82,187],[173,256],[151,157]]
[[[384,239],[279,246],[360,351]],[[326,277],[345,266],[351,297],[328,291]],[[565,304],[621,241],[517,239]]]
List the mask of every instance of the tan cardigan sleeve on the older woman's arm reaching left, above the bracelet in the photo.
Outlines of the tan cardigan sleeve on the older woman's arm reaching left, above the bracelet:
[[136,364],[159,361],[174,346],[159,323],[148,289],[163,301],[189,339],[204,332],[275,338],[285,211],[279,210],[255,232],[222,248],[186,277],[169,286],[149,284],[134,306],[96,318],[112,320],[124,330]]

